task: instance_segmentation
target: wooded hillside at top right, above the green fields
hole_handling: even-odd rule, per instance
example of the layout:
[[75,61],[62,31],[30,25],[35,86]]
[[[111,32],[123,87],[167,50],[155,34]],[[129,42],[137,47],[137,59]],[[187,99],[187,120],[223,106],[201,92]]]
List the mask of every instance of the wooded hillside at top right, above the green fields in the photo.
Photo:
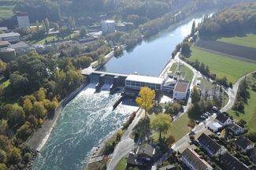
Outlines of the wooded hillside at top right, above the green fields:
[[243,34],[255,31],[256,3],[245,3],[224,9],[213,17],[205,17],[199,27],[202,38]]

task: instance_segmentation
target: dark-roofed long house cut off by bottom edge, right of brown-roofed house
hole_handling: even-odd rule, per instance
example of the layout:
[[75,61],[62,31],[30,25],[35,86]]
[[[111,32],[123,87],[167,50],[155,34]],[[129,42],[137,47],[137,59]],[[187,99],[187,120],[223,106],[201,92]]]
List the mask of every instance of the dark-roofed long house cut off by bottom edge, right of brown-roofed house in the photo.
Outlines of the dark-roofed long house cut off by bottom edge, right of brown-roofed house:
[[247,165],[240,162],[236,157],[233,157],[230,153],[224,153],[220,159],[221,165],[227,170],[249,170]]

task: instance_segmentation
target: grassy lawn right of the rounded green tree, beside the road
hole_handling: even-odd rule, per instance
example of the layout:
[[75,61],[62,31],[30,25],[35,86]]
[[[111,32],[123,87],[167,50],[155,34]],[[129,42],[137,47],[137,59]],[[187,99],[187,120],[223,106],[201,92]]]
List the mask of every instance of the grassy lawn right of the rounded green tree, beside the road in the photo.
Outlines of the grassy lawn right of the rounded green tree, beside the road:
[[[169,128],[169,131],[167,131],[167,133],[162,136],[168,138],[169,135],[173,135],[175,140],[178,141],[191,130],[191,128],[187,126],[188,120],[189,118],[187,113],[184,113],[183,116],[172,123],[172,127]],[[158,141],[159,133],[155,133],[152,137],[154,141]]]

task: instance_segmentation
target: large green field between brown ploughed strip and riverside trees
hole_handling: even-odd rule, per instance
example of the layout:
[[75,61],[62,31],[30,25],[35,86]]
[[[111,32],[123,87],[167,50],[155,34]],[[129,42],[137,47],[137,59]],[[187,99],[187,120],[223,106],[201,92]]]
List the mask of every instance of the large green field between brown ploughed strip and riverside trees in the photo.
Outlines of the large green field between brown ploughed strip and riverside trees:
[[205,50],[198,50],[195,46],[191,48],[191,51],[191,57],[188,58],[189,61],[198,59],[199,62],[208,65],[211,74],[216,74],[218,78],[227,76],[228,81],[232,83],[236,83],[239,77],[245,75],[246,72],[256,70],[256,64],[254,63],[210,53]]

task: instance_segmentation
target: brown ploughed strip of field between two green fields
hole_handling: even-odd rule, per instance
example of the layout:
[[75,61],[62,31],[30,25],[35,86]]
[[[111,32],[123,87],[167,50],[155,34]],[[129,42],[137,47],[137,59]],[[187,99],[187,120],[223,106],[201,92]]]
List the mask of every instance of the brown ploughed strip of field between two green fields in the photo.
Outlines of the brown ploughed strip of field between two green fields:
[[201,39],[198,40],[196,46],[202,48],[203,50],[210,50],[221,54],[227,54],[229,57],[238,57],[245,61],[256,62],[256,48],[239,46],[219,41],[204,41]]

